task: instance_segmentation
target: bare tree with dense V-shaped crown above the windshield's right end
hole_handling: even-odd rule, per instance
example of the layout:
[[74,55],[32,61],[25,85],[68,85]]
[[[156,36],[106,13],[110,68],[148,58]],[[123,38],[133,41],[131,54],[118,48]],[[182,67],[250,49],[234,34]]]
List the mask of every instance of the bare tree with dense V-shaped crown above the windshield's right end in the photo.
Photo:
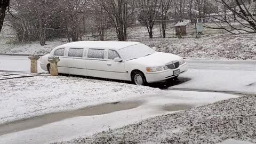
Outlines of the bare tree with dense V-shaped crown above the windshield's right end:
[[147,27],[149,38],[153,38],[155,22],[161,17],[159,10],[162,0],[139,0],[141,11],[138,15],[139,22]]

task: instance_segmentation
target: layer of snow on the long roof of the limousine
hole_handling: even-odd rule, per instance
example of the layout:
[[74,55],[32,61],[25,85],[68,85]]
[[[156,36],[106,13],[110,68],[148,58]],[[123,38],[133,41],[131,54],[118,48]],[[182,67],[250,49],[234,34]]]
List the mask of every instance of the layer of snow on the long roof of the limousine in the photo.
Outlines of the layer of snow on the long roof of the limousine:
[[105,41],[81,41],[72,42],[60,45],[58,47],[95,47],[95,48],[107,48],[107,49],[122,49],[124,47],[129,47],[132,45],[141,44],[138,42],[105,42]]

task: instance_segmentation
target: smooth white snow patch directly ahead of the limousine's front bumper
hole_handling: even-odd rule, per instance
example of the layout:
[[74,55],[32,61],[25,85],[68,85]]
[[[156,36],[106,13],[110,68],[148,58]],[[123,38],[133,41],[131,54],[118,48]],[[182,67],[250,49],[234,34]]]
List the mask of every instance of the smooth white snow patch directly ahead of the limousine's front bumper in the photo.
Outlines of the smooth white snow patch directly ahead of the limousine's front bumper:
[[[255,70],[256,71],[256,70]],[[256,72],[247,70],[189,69],[185,83],[169,88],[256,94]]]

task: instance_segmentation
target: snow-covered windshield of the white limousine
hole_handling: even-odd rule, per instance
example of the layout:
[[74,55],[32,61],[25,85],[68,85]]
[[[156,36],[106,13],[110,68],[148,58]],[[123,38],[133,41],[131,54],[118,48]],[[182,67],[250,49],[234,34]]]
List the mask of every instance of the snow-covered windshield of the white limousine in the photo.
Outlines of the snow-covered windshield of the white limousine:
[[137,44],[129,47],[124,47],[119,50],[119,53],[122,55],[124,60],[131,60],[135,58],[145,57],[155,53],[153,49],[144,44]]

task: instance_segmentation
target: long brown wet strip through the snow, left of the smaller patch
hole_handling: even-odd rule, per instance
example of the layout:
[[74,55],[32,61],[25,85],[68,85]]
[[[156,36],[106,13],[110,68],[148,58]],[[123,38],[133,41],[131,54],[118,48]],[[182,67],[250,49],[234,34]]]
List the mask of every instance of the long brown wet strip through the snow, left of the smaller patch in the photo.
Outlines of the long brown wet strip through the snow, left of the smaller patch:
[[46,114],[43,116],[37,116],[25,120],[15,121],[6,124],[0,124],[0,135],[19,132],[23,130],[33,129],[45,124],[50,124],[63,119],[79,117],[79,116],[95,116],[113,113],[115,111],[128,110],[137,108],[142,105],[143,102],[114,102],[106,103],[99,106],[86,107],[83,109],[63,111],[60,113]]

